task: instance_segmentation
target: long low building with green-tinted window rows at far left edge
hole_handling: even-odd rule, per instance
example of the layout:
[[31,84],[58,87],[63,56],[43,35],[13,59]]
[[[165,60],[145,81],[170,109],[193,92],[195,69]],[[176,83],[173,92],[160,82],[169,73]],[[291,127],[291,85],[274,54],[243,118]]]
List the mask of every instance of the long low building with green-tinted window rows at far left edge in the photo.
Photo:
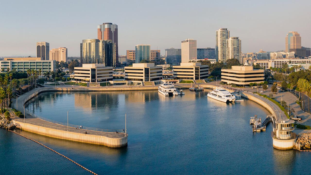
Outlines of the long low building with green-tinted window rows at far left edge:
[[[3,70],[2,70],[3,69]],[[15,69],[17,72],[27,72],[28,69],[41,70],[41,73],[55,71],[54,60],[44,60],[41,57],[34,58],[4,58],[0,61],[0,70],[8,72]]]

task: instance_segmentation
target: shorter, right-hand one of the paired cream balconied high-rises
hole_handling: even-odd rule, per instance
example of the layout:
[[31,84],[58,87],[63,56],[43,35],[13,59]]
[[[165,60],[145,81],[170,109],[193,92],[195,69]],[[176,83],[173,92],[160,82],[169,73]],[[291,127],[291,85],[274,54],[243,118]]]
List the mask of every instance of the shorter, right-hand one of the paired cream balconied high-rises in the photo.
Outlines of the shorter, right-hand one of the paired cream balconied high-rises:
[[241,40],[239,37],[230,37],[227,42],[227,53],[226,60],[228,59],[238,59],[240,64],[243,64],[242,50],[241,50]]

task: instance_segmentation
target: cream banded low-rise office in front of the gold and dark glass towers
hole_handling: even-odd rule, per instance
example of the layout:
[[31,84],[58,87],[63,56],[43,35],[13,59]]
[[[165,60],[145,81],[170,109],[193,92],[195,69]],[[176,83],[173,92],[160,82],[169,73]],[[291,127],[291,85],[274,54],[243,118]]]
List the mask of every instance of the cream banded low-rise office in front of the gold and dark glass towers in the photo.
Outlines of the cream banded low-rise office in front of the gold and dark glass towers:
[[101,83],[113,80],[113,67],[104,64],[82,64],[74,68],[74,81],[77,83]]

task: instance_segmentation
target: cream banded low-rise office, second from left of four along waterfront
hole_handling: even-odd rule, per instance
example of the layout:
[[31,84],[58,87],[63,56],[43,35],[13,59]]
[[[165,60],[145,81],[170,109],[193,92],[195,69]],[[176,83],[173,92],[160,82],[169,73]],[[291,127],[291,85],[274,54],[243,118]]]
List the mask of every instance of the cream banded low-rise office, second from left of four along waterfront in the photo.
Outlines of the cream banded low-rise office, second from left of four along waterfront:
[[133,63],[124,67],[124,71],[125,79],[134,85],[159,84],[162,79],[162,67],[154,63]]

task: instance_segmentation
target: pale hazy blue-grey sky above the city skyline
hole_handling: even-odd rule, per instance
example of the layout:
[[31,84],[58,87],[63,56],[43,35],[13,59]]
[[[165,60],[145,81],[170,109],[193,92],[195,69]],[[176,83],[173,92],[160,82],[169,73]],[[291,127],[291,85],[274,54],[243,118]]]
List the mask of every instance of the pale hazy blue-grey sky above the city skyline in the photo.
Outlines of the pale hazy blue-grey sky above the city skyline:
[[216,45],[216,30],[228,28],[242,40],[242,52],[285,50],[285,36],[298,31],[311,47],[311,1],[196,0],[0,0],[0,56],[35,56],[36,42],[50,50],[67,47],[80,56],[83,39],[97,39],[97,25],[118,25],[119,55],[137,44],[151,49],[181,48],[187,38],[197,48]]

